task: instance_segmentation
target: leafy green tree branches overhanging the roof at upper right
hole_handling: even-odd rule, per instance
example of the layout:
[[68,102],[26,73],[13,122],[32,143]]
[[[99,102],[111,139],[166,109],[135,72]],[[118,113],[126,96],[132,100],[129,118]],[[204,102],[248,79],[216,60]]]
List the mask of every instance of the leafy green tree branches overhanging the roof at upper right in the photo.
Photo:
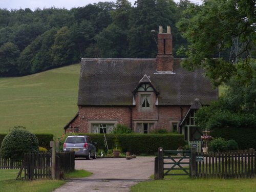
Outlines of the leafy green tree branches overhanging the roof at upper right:
[[[215,86],[236,75],[234,63],[243,66],[255,53],[255,1],[208,0],[190,5],[177,26],[189,45],[181,48],[187,56],[182,65],[193,70],[206,69]],[[254,15],[254,17],[252,17]],[[239,44],[237,51],[233,51]]]

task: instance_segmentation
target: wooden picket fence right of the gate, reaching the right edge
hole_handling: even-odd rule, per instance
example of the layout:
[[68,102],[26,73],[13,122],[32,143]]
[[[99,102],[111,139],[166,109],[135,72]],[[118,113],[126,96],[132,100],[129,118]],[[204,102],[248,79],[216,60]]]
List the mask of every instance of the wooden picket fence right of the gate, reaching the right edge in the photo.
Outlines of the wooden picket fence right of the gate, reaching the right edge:
[[202,178],[254,178],[256,153],[200,154],[203,161],[196,162],[196,177]]

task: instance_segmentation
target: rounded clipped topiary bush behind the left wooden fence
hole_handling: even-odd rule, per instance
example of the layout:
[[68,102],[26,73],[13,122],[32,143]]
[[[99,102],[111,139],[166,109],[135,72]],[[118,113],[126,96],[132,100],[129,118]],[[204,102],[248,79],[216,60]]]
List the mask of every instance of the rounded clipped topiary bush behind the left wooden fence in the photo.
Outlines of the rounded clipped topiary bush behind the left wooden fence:
[[1,154],[3,158],[19,160],[23,159],[24,153],[34,152],[38,152],[37,137],[34,134],[17,127],[14,131],[5,136],[1,145]]

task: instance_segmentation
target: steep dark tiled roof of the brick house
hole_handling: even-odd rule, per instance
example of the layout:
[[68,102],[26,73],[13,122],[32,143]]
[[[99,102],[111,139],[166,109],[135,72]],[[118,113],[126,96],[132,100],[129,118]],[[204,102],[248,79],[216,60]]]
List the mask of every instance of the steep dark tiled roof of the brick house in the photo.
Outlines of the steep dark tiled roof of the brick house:
[[156,59],[82,58],[78,105],[133,105],[133,91],[146,77],[158,94],[158,105],[202,104],[218,99],[203,70],[188,72],[174,59],[173,72],[157,72]]

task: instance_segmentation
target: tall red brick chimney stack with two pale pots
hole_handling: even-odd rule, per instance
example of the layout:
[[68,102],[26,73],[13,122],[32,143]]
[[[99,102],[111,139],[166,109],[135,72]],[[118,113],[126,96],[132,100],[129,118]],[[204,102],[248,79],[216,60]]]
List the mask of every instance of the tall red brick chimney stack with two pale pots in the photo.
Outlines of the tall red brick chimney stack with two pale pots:
[[167,26],[166,33],[163,33],[163,27],[159,26],[157,35],[157,71],[173,71],[173,38],[170,33],[170,26]]

